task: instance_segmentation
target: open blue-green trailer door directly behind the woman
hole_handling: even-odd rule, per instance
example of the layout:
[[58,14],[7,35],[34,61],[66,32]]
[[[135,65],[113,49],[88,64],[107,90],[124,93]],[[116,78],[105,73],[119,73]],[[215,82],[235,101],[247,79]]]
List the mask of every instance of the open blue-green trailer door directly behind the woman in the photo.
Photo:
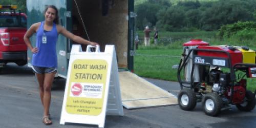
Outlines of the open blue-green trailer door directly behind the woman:
[[[27,24],[28,28],[37,22],[42,22],[45,20],[44,11],[48,5],[55,5],[59,11],[59,25],[67,28],[67,18],[69,17],[69,13],[67,13],[67,2],[66,0],[27,0]],[[71,17],[71,16],[70,16]],[[30,38],[31,44],[35,47],[36,43],[36,34],[33,34]],[[66,77],[67,75],[67,67],[68,67],[68,55],[67,55],[67,38],[58,35],[57,41],[57,56],[58,56],[58,76]],[[28,66],[31,67],[32,53],[28,50]]]

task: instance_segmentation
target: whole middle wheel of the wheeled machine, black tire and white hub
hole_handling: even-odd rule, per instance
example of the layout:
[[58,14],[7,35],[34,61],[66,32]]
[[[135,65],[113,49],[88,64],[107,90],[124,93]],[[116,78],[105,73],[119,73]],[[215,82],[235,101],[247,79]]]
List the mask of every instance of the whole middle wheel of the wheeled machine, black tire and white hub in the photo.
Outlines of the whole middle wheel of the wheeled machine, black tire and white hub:
[[206,115],[217,116],[222,105],[223,101],[217,93],[209,93],[203,97],[203,108]]

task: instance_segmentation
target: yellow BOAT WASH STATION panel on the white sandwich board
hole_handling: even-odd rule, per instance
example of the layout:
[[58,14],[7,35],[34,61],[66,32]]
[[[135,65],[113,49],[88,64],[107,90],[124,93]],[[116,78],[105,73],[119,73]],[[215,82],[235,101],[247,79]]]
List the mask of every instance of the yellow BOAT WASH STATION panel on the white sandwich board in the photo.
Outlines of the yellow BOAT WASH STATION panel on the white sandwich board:
[[73,61],[66,102],[67,113],[97,116],[102,112],[107,72],[108,63],[102,59]]

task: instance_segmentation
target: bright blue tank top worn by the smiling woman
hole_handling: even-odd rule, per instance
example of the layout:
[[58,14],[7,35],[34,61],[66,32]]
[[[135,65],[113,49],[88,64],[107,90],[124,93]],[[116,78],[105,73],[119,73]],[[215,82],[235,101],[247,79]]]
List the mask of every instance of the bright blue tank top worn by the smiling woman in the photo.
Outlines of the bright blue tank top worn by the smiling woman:
[[[57,27],[56,24],[53,23],[52,30],[45,31],[44,24],[45,22],[41,22],[36,32],[36,47],[38,48],[38,52],[33,54],[32,65],[38,67],[57,67]],[[43,36],[47,39],[43,39]]]

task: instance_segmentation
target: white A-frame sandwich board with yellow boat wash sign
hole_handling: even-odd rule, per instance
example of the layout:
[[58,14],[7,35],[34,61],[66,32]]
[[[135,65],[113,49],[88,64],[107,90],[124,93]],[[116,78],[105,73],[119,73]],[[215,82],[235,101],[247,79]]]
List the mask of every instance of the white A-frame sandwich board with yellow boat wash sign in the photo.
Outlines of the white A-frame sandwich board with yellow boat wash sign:
[[60,124],[84,123],[104,127],[105,116],[123,115],[120,83],[114,45],[106,45],[104,52],[92,46],[82,52],[73,45]]

